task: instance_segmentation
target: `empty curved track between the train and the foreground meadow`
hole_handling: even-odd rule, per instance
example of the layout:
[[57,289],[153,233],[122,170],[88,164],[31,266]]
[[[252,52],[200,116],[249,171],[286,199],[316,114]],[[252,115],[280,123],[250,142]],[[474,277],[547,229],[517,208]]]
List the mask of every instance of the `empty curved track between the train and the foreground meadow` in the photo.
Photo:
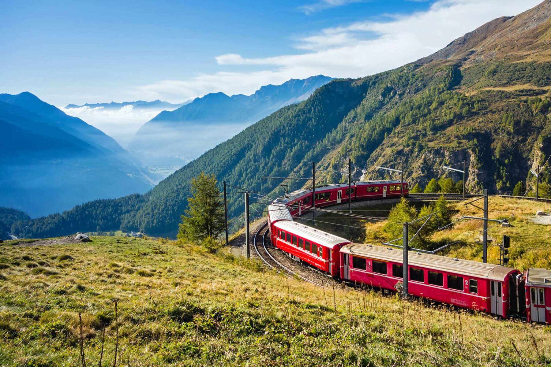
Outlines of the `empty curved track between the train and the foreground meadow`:
[[299,277],[318,287],[327,288],[323,285],[323,280],[321,279],[321,277],[325,276],[320,272],[298,264],[287,255],[284,255],[282,251],[272,247],[271,241],[267,236],[268,229],[268,222],[266,222],[258,227],[253,236],[252,243],[258,258],[260,258],[269,269],[276,270],[289,278]]

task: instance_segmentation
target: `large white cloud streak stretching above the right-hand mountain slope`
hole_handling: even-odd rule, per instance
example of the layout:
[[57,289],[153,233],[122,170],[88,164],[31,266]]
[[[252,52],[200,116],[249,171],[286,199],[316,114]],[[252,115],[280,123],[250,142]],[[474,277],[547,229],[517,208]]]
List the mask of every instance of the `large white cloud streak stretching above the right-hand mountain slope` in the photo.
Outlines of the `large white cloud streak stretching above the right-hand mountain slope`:
[[[298,54],[262,58],[223,54],[215,59],[224,71],[188,80],[164,80],[141,86],[136,92],[147,98],[181,101],[218,91],[250,94],[262,85],[317,74],[337,78],[370,75],[428,56],[490,20],[516,15],[539,2],[439,0],[423,12],[385,14],[381,20],[359,21],[295,38],[293,47],[303,51]],[[233,65],[255,71],[228,71]]]

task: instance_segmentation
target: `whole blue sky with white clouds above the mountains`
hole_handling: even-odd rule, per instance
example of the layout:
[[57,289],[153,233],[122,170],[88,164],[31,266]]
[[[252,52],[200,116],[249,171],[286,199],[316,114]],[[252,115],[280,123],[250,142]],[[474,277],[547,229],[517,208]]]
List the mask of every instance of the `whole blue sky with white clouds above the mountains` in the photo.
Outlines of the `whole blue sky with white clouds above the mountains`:
[[56,106],[359,77],[539,0],[0,3],[0,92]]

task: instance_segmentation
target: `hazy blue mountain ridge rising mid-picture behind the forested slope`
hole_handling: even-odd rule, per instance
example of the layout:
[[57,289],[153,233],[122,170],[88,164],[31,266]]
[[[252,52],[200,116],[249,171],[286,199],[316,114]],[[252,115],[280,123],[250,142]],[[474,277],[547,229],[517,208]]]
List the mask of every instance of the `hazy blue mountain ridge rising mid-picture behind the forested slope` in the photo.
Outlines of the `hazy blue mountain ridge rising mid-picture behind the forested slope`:
[[305,100],[331,80],[317,75],[265,85],[250,96],[218,92],[195,98],[145,123],[128,150],[146,166],[181,167],[279,108]]

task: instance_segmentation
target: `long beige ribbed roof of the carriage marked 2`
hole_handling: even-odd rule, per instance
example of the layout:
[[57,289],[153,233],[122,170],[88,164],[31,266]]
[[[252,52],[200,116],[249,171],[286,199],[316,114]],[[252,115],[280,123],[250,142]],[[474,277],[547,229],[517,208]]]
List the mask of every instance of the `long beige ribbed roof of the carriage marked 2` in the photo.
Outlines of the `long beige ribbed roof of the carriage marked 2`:
[[[403,261],[402,249],[392,249],[376,245],[348,244],[341,248],[342,253],[383,261]],[[415,253],[409,251],[408,264],[429,269],[447,271],[467,277],[488,278],[504,281],[507,274],[515,269],[510,267],[486,264],[484,262],[448,258],[447,256]]]

